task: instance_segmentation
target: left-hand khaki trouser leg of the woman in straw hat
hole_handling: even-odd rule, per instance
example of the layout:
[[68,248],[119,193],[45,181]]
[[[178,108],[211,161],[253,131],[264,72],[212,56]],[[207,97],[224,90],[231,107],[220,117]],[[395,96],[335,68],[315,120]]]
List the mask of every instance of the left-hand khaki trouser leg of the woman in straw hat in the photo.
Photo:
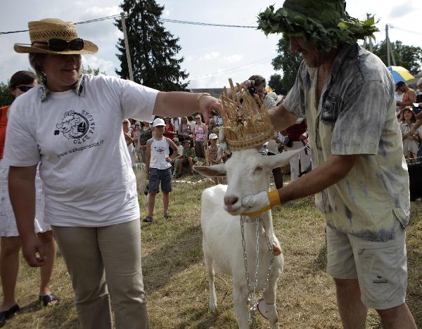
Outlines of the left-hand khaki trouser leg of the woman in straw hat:
[[82,329],[111,329],[111,309],[96,227],[52,226],[76,296]]

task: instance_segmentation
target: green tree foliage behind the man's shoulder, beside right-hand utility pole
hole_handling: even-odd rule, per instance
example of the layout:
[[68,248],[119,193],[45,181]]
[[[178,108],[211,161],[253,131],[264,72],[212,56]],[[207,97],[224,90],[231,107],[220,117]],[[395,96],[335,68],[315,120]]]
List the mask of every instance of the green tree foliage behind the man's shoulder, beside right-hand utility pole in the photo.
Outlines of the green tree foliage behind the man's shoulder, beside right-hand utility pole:
[[[394,53],[397,66],[407,68],[412,75],[421,71],[422,63],[422,48],[416,46],[407,46],[402,41],[395,41],[390,43],[392,46],[392,52]],[[387,66],[387,43],[381,41],[380,43],[373,46],[373,53],[376,54],[383,63]],[[392,63],[390,63],[392,65]]]

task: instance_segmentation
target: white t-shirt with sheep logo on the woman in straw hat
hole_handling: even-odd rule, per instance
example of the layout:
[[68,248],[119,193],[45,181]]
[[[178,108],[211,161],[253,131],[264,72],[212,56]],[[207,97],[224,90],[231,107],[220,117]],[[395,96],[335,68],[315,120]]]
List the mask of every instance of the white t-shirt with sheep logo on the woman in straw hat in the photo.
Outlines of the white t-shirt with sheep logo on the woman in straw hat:
[[46,222],[108,226],[139,219],[136,179],[122,120],[153,120],[158,91],[116,77],[84,75],[84,89],[35,87],[9,110],[4,157],[13,167],[41,162]]

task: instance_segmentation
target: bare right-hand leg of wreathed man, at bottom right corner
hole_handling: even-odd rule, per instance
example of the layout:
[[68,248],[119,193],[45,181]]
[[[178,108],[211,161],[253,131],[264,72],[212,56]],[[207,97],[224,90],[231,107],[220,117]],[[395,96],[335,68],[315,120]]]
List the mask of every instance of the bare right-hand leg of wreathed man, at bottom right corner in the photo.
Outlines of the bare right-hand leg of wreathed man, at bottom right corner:
[[392,309],[377,309],[384,329],[416,329],[416,323],[407,304]]

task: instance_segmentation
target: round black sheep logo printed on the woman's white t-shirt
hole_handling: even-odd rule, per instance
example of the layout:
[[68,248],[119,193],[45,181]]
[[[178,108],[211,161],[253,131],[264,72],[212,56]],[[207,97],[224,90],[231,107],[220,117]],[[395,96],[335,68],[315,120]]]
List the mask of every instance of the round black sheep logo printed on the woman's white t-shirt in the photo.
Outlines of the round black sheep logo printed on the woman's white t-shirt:
[[60,123],[56,124],[58,130],[54,131],[54,135],[65,136],[65,138],[73,139],[73,143],[79,144],[91,138],[94,134],[95,122],[94,117],[89,112],[82,110],[81,113],[70,110],[65,112]]

